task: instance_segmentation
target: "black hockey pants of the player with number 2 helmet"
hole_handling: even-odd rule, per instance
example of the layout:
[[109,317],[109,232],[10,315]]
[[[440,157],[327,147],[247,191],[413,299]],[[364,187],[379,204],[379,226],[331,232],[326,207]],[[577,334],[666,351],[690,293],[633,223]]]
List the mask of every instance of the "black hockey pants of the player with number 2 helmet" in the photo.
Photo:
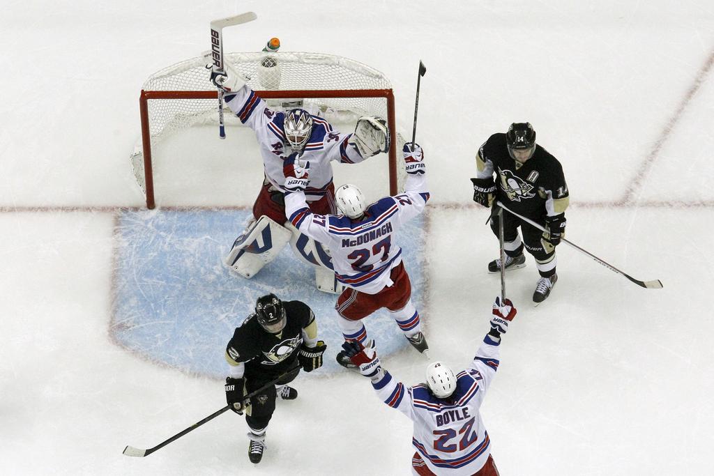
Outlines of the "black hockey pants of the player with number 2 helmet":
[[[291,365],[297,362],[295,360]],[[296,368],[285,377],[278,380],[276,385],[286,385],[291,383],[300,373],[300,369]],[[260,367],[253,368],[250,364],[246,364],[246,393],[254,392],[261,388],[266,383],[276,378],[278,374],[265,373]],[[270,385],[263,392],[251,397],[251,406],[246,410],[246,423],[251,427],[251,431],[256,435],[265,431],[275,412],[275,401],[278,397],[276,385]]]

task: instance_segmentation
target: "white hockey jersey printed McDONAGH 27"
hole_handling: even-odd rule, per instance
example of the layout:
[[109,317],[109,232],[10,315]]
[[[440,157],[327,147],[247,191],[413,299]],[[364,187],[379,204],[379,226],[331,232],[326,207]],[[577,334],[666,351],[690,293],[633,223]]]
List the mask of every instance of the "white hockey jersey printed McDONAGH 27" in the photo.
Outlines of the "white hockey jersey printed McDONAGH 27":
[[401,263],[401,248],[393,243],[393,234],[421,213],[429,199],[424,175],[408,176],[404,189],[400,195],[381,198],[368,206],[361,220],[316,215],[307,207],[303,193],[288,193],[286,216],[301,233],[330,250],[335,277],[340,283],[362,293],[376,294],[393,284],[390,271]]

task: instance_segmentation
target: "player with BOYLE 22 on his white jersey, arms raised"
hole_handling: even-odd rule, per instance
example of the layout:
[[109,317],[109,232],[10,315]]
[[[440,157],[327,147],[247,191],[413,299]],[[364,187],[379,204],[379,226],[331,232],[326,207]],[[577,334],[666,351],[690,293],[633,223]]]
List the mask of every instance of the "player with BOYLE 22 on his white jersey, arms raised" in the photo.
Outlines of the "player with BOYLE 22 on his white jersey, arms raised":
[[378,397],[413,421],[415,474],[498,476],[479,408],[498,369],[501,335],[516,316],[516,308],[510,300],[496,298],[492,313],[491,330],[466,370],[454,374],[441,362],[431,363],[426,384],[411,388],[381,367],[372,341],[366,346],[343,344],[351,362],[371,379]]

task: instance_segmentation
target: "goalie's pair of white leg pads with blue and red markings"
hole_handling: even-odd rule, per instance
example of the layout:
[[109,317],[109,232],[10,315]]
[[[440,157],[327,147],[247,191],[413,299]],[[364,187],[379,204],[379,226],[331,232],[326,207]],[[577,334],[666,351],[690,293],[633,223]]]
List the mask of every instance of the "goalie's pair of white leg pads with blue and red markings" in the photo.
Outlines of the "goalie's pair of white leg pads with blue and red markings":
[[274,260],[290,242],[295,255],[314,266],[316,287],[326,293],[341,293],[343,286],[335,278],[328,250],[300,233],[291,223],[286,224],[287,228],[264,215],[258,221],[251,217],[246,231],[236,238],[223,262],[243,278],[249,279]]

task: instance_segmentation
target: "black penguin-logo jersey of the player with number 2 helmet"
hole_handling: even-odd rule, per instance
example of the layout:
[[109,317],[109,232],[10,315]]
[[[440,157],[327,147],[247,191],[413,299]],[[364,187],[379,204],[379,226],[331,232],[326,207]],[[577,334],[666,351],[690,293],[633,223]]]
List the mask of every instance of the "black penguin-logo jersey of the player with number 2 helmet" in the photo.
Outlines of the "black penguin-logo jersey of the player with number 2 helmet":
[[315,315],[301,301],[283,301],[283,307],[286,324],[278,334],[266,332],[254,313],[236,328],[226,347],[228,363],[245,363],[246,370],[267,375],[278,375],[295,365],[303,343],[303,329],[309,337],[316,334]]

